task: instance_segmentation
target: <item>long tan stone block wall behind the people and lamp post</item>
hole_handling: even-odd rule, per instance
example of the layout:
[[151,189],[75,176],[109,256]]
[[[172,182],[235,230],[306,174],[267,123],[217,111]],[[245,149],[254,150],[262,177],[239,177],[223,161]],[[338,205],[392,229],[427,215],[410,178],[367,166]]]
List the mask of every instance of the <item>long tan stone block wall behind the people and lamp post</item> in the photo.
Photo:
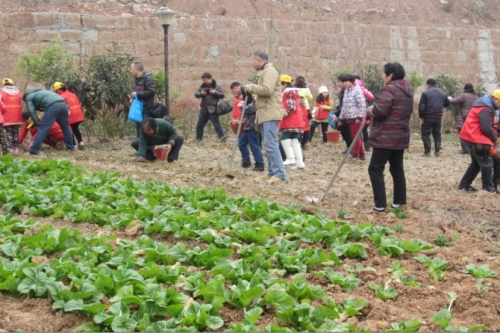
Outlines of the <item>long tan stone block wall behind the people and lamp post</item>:
[[[163,68],[163,29],[153,15],[93,16],[63,13],[0,13],[3,76],[24,51],[39,51],[61,38],[76,61],[99,54],[111,41],[123,45],[148,70]],[[425,77],[481,76],[496,87],[500,30],[364,25],[359,23],[178,17],[169,29],[170,80],[190,94],[210,71],[228,90],[253,76],[251,54],[267,51],[284,73],[305,75],[313,89],[330,81],[335,67],[400,61]]]

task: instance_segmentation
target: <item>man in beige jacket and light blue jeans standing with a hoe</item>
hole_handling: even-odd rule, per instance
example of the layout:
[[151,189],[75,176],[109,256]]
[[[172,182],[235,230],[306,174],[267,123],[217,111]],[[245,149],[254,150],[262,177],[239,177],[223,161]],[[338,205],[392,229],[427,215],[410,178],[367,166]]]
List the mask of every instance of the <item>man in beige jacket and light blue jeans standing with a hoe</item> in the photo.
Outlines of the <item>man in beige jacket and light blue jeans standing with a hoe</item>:
[[257,95],[257,124],[260,127],[264,148],[267,153],[269,183],[286,181],[285,166],[276,138],[278,126],[283,119],[281,104],[281,81],[278,71],[269,62],[264,52],[255,52],[252,58],[253,67],[257,70],[257,84],[242,86],[242,91]]

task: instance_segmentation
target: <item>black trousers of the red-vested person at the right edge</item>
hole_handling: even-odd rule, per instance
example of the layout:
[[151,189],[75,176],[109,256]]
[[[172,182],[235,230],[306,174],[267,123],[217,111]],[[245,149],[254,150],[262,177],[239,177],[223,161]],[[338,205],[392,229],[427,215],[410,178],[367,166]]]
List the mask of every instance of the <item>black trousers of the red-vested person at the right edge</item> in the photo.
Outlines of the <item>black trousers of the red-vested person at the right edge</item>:
[[482,147],[482,149],[477,149],[477,145],[469,146],[470,164],[462,180],[460,180],[458,188],[469,189],[474,179],[481,172],[482,189],[488,192],[495,191],[493,185],[493,159],[489,152],[491,146],[484,145]]

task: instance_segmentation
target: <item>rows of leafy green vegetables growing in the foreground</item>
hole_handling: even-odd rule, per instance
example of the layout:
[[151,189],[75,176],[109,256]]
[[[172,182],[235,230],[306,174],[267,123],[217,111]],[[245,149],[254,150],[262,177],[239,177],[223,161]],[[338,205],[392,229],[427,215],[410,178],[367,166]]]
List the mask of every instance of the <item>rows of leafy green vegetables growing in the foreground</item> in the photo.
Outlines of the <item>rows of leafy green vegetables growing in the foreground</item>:
[[[367,258],[369,244],[394,258],[388,271],[403,288],[425,287],[397,260],[404,253],[415,253],[433,280],[450,269],[446,260],[419,253],[431,244],[400,239],[390,228],[305,215],[216,189],[89,173],[67,161],[2,158],[0,205],[8,214],[0,216],[0,290],[50,297],[54,310],[84,313],[89,320],[81,331],[362,331],[367,301],[335,302],[310,277],[344,292],[369,285],[382,300],[397,298],[394,287],[360,279],[360,271],[373,268],[343,262]],[[13,219],[11,212],[87,221],[134,237],[86,237]],[[145,234],[135,237],[138,230]],[[496,276],[487,265],[462,269],[483,286]],[[450,293],[449,306],[432,318],[406,318],[385,330],[417,331],[424,320],[446,331],[485,329],[450,324],[455,297]],[[241,309],[242,321],[224,322],[227,309]],[[274,323],[263,326],[265,314]],[[347,322],[353,316],[361,325]]]

